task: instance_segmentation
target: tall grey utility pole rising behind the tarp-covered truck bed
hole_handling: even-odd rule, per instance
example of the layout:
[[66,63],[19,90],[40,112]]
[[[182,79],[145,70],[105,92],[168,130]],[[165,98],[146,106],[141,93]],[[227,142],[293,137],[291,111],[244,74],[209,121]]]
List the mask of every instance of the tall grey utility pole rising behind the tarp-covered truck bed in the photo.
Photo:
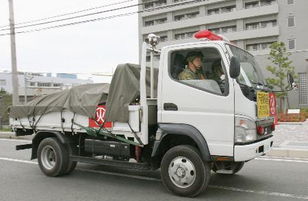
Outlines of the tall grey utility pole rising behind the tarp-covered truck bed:
[[10,36],[11,36],[11,60],[12,60],[12,84],[13,84],[13,106],[19,104],[18,95],[18,78],[17,78],[17,62],[16,62],[16,44],[15,44],[15,23],[13,0],[9,1],[10,7]]

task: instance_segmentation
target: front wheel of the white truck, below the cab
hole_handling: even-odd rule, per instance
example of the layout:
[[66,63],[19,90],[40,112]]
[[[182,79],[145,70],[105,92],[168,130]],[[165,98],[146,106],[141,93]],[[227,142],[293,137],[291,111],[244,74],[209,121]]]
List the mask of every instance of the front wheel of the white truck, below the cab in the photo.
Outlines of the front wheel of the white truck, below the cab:
[[190,145],[172,147],[162,158],[162,181],[179,196],[194,197],[201,193],[209,183],[209,172],[209,165]]

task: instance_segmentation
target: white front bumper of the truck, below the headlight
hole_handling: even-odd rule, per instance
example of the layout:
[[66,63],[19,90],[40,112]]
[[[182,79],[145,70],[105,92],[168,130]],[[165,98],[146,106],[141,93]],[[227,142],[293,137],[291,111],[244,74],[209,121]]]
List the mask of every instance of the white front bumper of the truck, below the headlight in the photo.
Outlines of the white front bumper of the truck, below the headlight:
[[234,161],[249,161],[257,156],[266,154],[272,150],[274,137],[251,143],[248,145],[235,145],[234,146]]

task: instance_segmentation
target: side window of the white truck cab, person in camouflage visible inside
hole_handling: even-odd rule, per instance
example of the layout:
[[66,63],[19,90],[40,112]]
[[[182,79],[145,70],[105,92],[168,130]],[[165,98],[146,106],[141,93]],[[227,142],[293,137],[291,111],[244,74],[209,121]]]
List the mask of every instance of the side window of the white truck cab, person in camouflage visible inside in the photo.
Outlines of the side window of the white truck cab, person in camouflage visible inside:
[[170,77],[203,91],[225,95],[225,68],[215,48],[187,49],[171,54]]

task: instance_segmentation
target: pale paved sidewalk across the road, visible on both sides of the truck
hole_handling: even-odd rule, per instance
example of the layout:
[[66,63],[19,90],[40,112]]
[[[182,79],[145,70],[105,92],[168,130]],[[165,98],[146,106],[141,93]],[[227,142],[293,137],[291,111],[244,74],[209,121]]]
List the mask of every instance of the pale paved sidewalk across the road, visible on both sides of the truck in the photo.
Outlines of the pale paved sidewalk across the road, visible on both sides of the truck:
[[[308,158],[308,119],[302,125],[279,124],[274,134],[274,147],[266,156]],[[14,132],[0,132],[0,138],[28,139],[32,136],[15,137]]]

